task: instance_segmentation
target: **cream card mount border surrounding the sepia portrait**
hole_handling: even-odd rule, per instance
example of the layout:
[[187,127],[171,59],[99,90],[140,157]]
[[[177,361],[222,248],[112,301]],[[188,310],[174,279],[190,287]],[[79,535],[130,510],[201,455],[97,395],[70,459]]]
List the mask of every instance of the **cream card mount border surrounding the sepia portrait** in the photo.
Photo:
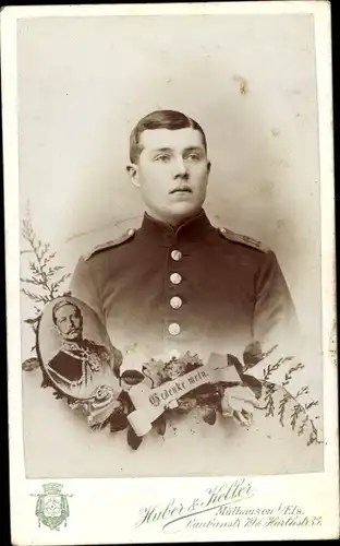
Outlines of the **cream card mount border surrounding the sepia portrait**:
[[[171,499],[189,506],[204,502],[207,488],[235,483],[228,478],[64,479],[69,499],[68,526],[57,532],[37,526],[36,498],[47,480],[26,479],[22,423],[20,337],[19,157],[16,118],[16,21],[44,16],[106,16],[114,14],[288,14],[311,13],[315,21],[321,185],[321,276],[325,397],[325,471],[307,475],[248,476],[254,495],[242,506],[279,510],[300,507],[316,519],[309,526],[186,529],[150,523],[137,526],[144,507]],[[5,203],[5,266],[9,369],[9,435],[12,543],[16,545],[119,544],[154,542],[317,539],[339,536],[339,474],[337,423],[335,206],[331,104],[330,9],[326,1],[238,2],[214,4],[64,5],[5,8],[1,13],[2,115]],[[212,471],[214,472],[214,471]],[[293,510],[293,508],[292,508]],[[320,520],[318,520],[320,518]],[[163,521],[165,523],[165,521]]]

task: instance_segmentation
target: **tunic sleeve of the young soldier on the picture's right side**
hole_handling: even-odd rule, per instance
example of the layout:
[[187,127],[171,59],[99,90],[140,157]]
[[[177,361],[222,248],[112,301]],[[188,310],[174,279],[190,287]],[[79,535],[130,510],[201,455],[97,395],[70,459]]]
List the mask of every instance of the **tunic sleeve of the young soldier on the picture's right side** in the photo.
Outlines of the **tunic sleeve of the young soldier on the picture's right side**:
[[254,341],[262,346],[295,344],[299,324],[294,304],[278,260],[265,254],[255,280]]

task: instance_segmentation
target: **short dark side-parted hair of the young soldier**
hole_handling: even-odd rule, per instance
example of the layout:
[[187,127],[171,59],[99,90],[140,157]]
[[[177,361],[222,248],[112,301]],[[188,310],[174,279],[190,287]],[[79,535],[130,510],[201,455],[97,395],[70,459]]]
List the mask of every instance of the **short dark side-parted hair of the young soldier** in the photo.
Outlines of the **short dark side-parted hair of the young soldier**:
[[141,145],[141,134],[146,130],[153,129],[170,129],[174,131],[177,129],[186,129],[191,127],[192,129],[196,129],[202,134],[203,145],[205,151],[207,151],[207,140],[204,130],[192,118],[185,116],[181,111],[175,110],[155,110],[142,118],[138,123],[132,130],[130,135],[130,161],[131,163],[136,164],[139,159],[139,155],[142,153]]

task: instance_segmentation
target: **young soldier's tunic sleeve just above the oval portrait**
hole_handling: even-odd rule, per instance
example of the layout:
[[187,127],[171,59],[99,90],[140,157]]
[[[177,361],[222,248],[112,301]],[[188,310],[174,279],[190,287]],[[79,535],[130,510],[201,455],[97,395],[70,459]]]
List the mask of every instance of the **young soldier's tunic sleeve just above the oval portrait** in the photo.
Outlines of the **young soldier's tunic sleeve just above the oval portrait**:
[[104,322],[98,285],[88,263],[81,258],[76,264],[70,283],[71,295],[85,301]]

